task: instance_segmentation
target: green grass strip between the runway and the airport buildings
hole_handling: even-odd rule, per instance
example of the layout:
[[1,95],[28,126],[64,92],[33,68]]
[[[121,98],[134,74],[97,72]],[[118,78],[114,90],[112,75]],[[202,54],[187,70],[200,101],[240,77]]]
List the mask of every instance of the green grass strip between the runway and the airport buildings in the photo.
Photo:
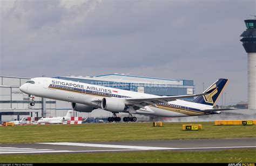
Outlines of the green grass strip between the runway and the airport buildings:
[[[182,124],[202,124],[199,131],[182,131]],[[214,126],[214,122],[107,123],[0,127],[0,143],[84,142],[170,139],[253,138],[256,126]]]

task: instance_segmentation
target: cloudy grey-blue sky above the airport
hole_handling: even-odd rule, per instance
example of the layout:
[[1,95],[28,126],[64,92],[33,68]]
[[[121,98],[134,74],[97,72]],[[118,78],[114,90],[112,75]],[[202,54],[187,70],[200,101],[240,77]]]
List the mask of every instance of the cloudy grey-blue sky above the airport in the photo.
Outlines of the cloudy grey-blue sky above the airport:
[[0,75],[119,73],[193,80],[196,93],[228,78],[223,104],[247,101],[239,40],[256,0],[0,0],[0,10]]

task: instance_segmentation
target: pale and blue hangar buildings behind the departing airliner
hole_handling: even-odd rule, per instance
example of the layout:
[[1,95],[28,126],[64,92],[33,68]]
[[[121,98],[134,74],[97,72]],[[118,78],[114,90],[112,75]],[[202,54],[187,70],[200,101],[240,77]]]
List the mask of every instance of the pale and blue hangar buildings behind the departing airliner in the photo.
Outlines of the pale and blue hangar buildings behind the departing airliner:
[[[109,74],[93,77],[58,76],[54,78],[138,91],[159,96],[194,94],[193,80],[171,80],[125,74]],[[29,95],[19,90],[19,86],[28,80],[30,80],[30,78],[0,76],[0,121],[19,120],[23,117],[62,117],[65,116],[68,110],[72,109],[71,103],[69,102],[40,97],[35,97],[35,106],[30,106]],[[191,101],[193,98],[185,98],[184,100]],[[91,113],[75,112],[74,116],[83,118],[110,117],[112,113],[97,109],[93,110]]]

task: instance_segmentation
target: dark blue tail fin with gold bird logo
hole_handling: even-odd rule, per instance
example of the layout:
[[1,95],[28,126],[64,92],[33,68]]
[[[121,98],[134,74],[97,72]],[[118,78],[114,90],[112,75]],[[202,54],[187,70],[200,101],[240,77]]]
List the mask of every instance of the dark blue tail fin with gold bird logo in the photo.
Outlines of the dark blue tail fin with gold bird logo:
[[196,99],[193,100],[193,102],[213,106],[217,102],[217,99],[218,99],[220,93],[223,91],[227,82],[228,82],[228,79],[219,78],[209,88],[207,88],[203,93],[211,91],[214,88],[215,88],[215,90],[210,92],[208,95],[198,96]]

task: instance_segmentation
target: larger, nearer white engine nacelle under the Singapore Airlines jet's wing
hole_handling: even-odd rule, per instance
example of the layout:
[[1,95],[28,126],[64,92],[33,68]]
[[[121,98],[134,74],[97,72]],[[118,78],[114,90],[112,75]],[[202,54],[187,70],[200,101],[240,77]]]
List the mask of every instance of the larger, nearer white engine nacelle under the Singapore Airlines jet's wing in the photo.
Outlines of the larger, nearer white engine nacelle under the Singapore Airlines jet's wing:
[[123,112],[125,104],[119,98],[107,97],[102,99],[102,109],[111,112]]

